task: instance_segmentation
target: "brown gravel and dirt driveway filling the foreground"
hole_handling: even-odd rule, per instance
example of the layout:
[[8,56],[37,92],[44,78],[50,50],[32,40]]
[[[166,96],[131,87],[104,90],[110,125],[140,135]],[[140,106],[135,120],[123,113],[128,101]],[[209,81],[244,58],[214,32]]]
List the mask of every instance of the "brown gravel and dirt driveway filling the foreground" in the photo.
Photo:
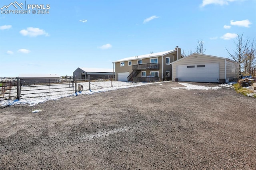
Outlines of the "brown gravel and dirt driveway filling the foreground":
[[172,87],[0,109],[0,169],[256,169],[255,98]]

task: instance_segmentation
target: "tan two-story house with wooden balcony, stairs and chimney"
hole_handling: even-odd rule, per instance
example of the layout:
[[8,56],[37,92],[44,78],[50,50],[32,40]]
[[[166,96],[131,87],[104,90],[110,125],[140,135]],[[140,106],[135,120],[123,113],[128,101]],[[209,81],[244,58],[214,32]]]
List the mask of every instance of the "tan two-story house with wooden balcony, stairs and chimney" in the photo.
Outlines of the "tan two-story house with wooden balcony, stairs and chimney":
[[172,63],[181,59],[181,49],[133,56],[114,61],[116,81],[164,81],[172,79]]

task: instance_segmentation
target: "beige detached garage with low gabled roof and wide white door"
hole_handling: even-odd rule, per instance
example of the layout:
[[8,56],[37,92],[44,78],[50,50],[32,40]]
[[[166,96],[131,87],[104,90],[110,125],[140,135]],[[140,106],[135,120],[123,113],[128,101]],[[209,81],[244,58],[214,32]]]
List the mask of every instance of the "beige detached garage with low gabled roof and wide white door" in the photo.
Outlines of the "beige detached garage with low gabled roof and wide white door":
[[171,64],[172,81],[225,83],[239,77],[239,63],[223,57],[193,53]]

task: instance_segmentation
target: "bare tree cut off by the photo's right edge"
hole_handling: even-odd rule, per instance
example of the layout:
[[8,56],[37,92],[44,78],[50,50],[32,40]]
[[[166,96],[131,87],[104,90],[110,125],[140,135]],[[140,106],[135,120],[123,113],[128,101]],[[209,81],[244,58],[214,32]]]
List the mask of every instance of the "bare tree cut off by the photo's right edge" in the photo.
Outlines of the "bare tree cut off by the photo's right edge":
[[244,73],[246,75],[252,74],[251,69],[256,64],[256,43],[255,40],[252,40],[252,43],[248,45],[248,49],[245,52],[244,55],[244,62],[242,63],[244,67]]

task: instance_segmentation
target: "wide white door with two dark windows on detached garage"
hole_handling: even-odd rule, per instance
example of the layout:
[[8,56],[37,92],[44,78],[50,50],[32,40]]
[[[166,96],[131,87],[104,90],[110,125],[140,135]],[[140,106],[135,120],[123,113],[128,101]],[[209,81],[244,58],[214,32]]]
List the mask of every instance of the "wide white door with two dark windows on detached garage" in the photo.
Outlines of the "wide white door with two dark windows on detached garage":
[[219,63],[177,65],[178,81],[219,82]]

